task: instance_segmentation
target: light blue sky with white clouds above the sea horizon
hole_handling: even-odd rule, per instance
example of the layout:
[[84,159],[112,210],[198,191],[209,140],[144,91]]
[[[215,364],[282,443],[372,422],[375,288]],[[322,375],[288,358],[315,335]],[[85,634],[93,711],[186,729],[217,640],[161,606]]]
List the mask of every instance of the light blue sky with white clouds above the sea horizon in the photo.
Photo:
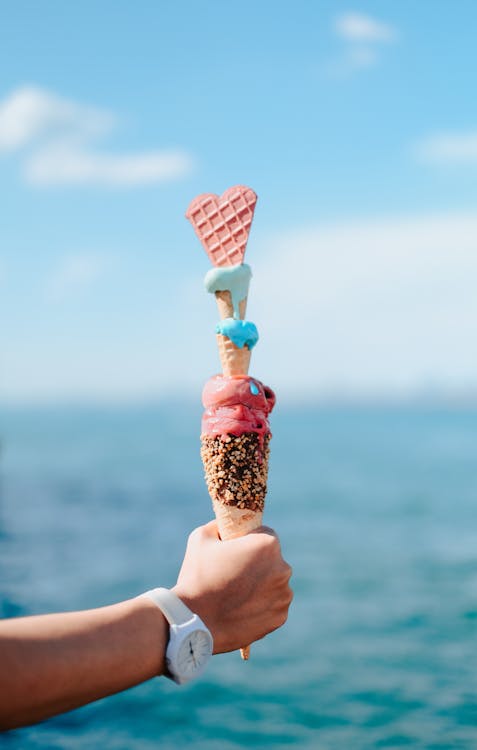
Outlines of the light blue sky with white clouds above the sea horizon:
[[259,196],[251,372],[476,391],[477,4],[0,6],[0,401],[197,397],[199,193]]

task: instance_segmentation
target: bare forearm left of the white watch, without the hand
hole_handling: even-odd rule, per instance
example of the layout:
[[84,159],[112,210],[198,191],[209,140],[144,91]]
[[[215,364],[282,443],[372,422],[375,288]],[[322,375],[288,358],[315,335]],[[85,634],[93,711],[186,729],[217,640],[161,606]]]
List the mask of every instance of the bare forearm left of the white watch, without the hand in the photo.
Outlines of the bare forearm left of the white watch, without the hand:
[[147,599],[0,622],[0,727],[45,719],[164,673],[168,626]]

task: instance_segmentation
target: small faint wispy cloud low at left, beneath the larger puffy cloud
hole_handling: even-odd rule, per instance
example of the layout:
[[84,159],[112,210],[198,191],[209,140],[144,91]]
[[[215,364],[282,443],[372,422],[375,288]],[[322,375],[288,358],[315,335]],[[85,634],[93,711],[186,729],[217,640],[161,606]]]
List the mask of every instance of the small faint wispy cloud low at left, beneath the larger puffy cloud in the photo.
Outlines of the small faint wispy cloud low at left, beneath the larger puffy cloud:
[[100,279],[108,267],[104,256],[89,253],[61,258],[46,282],[46,295],[59,302],[76,296]]

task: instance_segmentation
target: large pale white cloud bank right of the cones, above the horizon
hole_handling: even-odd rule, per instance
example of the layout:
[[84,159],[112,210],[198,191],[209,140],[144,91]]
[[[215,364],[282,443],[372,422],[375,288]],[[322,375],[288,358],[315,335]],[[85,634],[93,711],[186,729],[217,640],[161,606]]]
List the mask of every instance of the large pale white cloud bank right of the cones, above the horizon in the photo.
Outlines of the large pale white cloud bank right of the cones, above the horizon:
[[475,214],[274,238],[249,298],[257,372],[294,393],[475,387],[476,276]]

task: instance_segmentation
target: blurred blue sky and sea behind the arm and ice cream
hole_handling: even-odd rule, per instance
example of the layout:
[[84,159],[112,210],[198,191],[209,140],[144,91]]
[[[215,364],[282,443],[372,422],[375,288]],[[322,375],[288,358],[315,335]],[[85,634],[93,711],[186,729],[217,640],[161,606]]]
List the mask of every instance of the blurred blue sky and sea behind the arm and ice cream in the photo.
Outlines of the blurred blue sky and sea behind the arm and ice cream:
[[259,196],[286,627],[11,748],[477,745],[477,7],[0,8],[0,614],[172,585],[219,369],[184,218]]

